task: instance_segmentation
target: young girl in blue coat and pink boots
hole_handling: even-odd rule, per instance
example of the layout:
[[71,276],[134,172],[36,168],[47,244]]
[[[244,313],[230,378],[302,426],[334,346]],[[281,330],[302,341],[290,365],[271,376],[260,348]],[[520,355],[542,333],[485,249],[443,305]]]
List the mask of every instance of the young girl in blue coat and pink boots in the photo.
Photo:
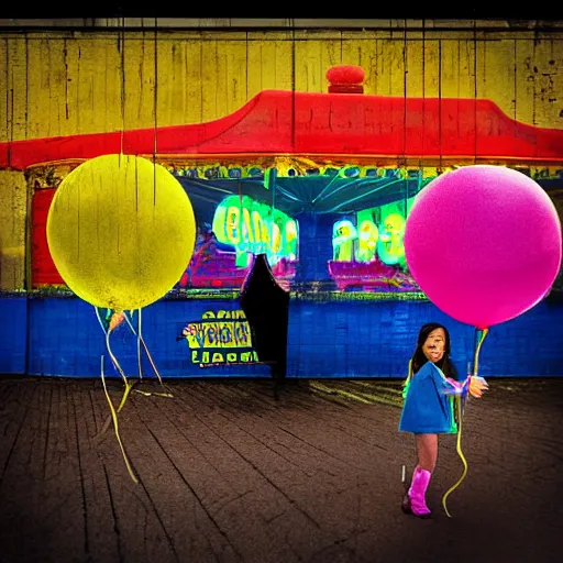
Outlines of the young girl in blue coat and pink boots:
[[405,382],[399,431],[415,434],[417,466],[401,508],[405,514],[419,518],[429,518],[431,514],[426,504],[426,492],[438,459],[438,434],[457,432],[454,394],[461,393],[467,384],[468,391],[481,397],[486,388],[481,377],[475,382],[467,378],[463,384],[457,383],[450,353],[448,329],[437,322],[424,324],[420,329]]

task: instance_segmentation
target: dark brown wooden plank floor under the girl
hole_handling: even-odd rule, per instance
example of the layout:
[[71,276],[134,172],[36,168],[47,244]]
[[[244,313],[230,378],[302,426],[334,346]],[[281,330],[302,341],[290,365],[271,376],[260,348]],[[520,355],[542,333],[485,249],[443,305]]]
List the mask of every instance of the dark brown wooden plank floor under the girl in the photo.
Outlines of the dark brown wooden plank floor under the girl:
[[[400,385],[145,380],[119,413],[98,379],[0,378],[0,561],[563,561],[563,379],[489,380],[461,476],[444,437],[429,521],[404,516]],[[109,382],[118,404],[121,382]]]

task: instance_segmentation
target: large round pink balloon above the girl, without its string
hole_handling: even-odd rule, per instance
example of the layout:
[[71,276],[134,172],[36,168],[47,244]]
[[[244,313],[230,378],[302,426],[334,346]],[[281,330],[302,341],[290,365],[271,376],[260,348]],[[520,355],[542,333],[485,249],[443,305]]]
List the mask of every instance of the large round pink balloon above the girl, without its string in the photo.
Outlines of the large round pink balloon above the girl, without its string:
[[486,329],[518,317],[549,292],[561,266],[561,222],[528,176],[465,166],[417,196],[405,227],[405,256],[438,308]]

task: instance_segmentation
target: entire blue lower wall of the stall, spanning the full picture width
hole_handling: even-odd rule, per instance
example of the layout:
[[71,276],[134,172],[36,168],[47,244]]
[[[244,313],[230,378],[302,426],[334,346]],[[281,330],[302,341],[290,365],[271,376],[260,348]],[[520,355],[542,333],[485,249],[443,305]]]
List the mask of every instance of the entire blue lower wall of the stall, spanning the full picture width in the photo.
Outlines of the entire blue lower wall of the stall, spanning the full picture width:
[[[27,310],[29,308],[29,310]],[[199,367],[185,339],[189,321],[208,310],[236,310],[233,300],[162,300],[143,311],[143,334],[163,377],[269,376],[266,366]],[[103,332],[91,306],[76,298],[0,298],[0,373],[97,377],[100,357],[114,376]],[[465,372],[473,358],[474,329],[426,301],[312,302],[292,299],[289,309],[288,376],[404,377],[419,328],[435,320],[452,335],[452,355]],[[27,331],[29,322],[29,334]],[[111,345],[128,376],[136,375],[136,341],[120,327]],[[483,344],[484,376],[563,375],[563,303],[543,301],[493,327]],[[143,371],[152,375],[143,354]]]

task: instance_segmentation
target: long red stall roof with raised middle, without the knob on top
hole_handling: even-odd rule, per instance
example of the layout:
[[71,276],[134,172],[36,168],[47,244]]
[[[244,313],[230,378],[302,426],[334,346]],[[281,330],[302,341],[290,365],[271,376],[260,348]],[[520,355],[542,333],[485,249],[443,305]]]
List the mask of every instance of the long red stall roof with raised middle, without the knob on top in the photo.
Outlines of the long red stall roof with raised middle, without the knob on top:
[[[563,131],[519,123],[484,99],[264,90],[234,113],[191,125],[0,144],[0,168],[119,153],[478,158],[563,163]],[[123,146],[122,146],[123,136]]]

